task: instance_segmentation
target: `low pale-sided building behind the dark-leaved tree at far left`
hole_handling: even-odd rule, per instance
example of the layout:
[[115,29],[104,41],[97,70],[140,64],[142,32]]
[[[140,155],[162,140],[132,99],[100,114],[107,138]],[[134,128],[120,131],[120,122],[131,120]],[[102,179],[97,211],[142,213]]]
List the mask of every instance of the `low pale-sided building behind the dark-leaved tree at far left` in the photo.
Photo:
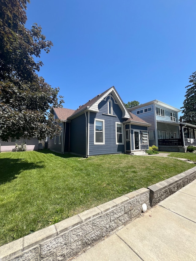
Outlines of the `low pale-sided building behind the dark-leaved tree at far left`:
[[21,145],[23,142],[26,144],[27,151],[36,151],[38,150],[39,140],[36,138],[30,137],[29,140],[27,138],[9,138],[8,141],[0,140],[1,144],[1,152],[3,151],[12,151],[15,148],[15,145]]

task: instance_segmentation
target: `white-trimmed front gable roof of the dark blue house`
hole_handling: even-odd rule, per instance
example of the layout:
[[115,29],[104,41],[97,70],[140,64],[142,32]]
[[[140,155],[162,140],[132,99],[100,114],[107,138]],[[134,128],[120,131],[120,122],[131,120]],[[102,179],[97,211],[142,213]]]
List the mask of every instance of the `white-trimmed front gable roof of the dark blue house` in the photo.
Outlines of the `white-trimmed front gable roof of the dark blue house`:
[[83,104],[82,106],[79,106],[79,108],[77,110],[75,110],[75,112],[69,118],[71,119],[72,117],[76,116],[77,114],[81,113],[84,110],[99,112],[98,104],[109,94],[111,94],[114,97],[114,99],[117,101],[120,109],[122,110],[122,112],[123,112],[122,118],[129,118],[130,114],[114,86],[107,89],[103,93],[95,96],[93,99],[89,100],[87,103]]

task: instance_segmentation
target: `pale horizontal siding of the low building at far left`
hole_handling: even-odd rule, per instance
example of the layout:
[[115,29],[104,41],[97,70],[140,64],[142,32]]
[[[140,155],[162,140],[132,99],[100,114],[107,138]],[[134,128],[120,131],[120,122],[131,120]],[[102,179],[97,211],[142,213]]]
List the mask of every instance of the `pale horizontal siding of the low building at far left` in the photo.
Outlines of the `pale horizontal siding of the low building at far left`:
[[[38,146],[39,146],[38,139],[30,138],[30,140],[28,140],[28,139],[24,139],[24,140],[27,140],[27,146],[26,146],[27,151],[37,151],[38,150]],[[21,145],[22,142],[23,142],[23,138],[21,138],[21,142],[6,142],[6,141],[0,140],[1,152],[12,151],[15,148],[16,144]]]

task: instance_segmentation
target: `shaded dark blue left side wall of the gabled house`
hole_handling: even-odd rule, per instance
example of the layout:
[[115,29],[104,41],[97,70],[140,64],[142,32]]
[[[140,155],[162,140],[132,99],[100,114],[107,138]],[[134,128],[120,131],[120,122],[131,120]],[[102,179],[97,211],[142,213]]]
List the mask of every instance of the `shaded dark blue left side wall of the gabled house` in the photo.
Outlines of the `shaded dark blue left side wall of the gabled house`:
[[86,118],[85,114],[71,120],[70,123],[70,152],[86,155]]

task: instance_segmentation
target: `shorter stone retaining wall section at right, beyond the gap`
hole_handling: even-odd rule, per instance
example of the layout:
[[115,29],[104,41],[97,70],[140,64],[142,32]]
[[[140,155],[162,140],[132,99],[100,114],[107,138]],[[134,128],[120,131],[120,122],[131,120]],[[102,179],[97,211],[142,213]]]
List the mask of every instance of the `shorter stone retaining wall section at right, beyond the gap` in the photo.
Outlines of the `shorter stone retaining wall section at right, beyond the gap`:
[[192,169],[184,171],[174,177],[149,186],[151,207],[155,206],[195,179],[196,167],[193,167]]

